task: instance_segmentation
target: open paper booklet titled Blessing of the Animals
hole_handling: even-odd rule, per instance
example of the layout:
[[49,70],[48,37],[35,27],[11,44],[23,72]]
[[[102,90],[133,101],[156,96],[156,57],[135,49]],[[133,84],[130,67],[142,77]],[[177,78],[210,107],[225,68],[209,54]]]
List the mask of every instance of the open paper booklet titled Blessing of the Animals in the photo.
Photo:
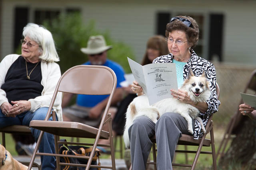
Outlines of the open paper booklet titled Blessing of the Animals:
[[175,63],[152,63],[142,66],[130,58],[128,63],[135,80],[148,96],[150,105],[172,98],[170,89],[178,90]]

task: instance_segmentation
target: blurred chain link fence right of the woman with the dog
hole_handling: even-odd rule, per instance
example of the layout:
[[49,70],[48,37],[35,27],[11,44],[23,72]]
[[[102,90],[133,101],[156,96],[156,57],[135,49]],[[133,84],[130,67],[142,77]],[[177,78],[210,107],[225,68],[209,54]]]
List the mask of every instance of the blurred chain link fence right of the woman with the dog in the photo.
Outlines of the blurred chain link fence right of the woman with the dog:
[[214,115],[215,127],[224,127],[232,115],[238,111],[241,101],[240,92],[244,92],[255,67],[232,64],[214,63],[217,72],[217,82],[220,86],[220,107]]

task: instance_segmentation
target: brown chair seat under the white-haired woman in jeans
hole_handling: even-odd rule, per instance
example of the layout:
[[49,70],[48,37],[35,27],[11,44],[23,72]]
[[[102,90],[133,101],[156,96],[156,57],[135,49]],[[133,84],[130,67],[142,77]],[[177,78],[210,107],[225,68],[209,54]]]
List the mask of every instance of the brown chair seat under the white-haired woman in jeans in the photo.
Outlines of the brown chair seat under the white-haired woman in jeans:
[[0,129],[0,132],[3,133],[22,133],[22,134],[30,134],[30,127],[25,126],[25,125],[11,125],[4,127]]

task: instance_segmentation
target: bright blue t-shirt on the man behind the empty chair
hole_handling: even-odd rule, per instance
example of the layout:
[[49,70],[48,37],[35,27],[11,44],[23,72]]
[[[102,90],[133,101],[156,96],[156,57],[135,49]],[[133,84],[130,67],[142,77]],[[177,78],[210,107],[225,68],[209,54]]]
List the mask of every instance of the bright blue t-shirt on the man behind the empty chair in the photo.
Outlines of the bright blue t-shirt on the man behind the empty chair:
[[[90,61],[84,63],[83,65],[91,65]],[[120,66],[118,63],[115,63],[114,61],[107,60],[103,66],[107,66],[111,68],[115,74],[116,74],[116,88],[121,87],[120,82],[124,81],[124,70],[122,66]],[[84,107],[94,107],[98,103],[102,102],[104,99],[106,99],[109,95],[84,95],[84,94],[78,94],[76,97],[76,104],[79,106]]]

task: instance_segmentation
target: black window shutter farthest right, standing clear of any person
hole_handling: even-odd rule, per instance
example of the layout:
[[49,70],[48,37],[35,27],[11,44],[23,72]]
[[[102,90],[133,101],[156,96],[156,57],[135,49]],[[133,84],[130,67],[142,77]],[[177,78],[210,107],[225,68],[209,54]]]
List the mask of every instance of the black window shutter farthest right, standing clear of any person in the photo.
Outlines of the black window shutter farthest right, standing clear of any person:
[[222,61],[222,37],[223,37],[223,14],[210,14],[210,33],[208,59],[213,60],[213,56]]

